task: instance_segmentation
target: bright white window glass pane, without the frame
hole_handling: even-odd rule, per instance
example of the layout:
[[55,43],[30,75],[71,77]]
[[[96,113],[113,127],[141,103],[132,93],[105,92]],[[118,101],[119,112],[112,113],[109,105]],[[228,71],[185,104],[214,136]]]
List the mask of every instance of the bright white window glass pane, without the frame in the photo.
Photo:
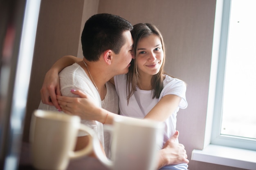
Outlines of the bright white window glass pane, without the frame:
[[232,0],[221,134],[256,139],[256,0]]

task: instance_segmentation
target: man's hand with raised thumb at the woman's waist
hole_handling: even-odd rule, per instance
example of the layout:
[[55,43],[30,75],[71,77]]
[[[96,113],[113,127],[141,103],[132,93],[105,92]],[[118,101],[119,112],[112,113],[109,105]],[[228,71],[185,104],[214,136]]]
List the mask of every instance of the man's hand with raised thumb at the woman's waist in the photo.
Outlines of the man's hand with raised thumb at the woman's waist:
[[158,169],[166,165],[189,163],[184,145],[175,142],[178,136],[179,132],[176,131],[175,134],[166,141],[163,149],[159,151]]

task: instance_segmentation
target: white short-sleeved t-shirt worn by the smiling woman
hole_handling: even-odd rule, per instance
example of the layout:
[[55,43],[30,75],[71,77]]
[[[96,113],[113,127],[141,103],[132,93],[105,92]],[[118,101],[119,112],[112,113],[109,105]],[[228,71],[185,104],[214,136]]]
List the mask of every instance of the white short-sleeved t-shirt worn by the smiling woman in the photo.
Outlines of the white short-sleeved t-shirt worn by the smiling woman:
[[[126,74],[117,75],[114,77],[114,80],[119,96],[120,114],[123,116],[144,118],[163,96],[173,94],[182,98],[173,114],[164,121],[164,145],[164,143],[175,133],[177,112],[180,108],[185,109],[187,107],[185,83],[180,79],[166,75],[166,78],[164,79],[164,89],[159,98],[152,98],[152,90],[141,90],[139,87],[136,87],[136,91],[130,97],[129,104],[127,104]],[[162,149],[163,145],[159,146],[159,149]]]

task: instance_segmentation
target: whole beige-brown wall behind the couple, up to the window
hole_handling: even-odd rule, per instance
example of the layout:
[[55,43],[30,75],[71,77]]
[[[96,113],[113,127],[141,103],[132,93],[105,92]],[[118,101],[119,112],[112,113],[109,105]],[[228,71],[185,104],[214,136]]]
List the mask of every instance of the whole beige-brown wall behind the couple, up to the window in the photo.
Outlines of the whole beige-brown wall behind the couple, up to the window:
[[[80,33],[85,20],[94,13],[112,13],[132,24],[153,23],[162,32],[167,49],[165,70],[188,85],[189,106],[178,112],[177,130],[190,159],[192,150],[204,145],[215,5],[216,0],[42,0],[24,140],[47,69],[63,55],[82,57]],[[189,169],[240,170],[191,160]]]

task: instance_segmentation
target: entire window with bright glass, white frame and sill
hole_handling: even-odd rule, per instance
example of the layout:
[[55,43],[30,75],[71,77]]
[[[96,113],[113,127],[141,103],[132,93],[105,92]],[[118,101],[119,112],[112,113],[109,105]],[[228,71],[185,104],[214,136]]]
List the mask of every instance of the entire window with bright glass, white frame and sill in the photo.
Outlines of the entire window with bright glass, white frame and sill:
[[255,170],[255,0],[217,0],[203,150],[191,159]]

